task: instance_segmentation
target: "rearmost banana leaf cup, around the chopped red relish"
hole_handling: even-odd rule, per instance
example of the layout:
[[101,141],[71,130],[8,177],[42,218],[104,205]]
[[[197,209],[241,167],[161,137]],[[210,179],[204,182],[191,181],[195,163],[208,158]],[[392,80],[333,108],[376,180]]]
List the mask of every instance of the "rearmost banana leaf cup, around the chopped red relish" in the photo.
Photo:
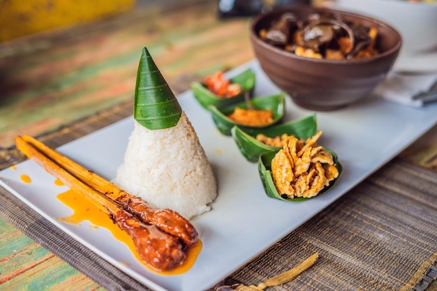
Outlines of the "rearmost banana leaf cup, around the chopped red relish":
[[206,110],[209,110],[209,105],[216,107],[224,107],[236,103],[243,102],[246,98],[245,94],[249,94],[249,98],[253,96],[253,89],[255,88],[255,73],[251,68],[244,70],[239,75],[231,77],[231,84],[239,84],[242,87],[242,92],[229,98],[223,98],[210,91],[205,83],[193,82],[191,83],[191,90],[198,103]]

